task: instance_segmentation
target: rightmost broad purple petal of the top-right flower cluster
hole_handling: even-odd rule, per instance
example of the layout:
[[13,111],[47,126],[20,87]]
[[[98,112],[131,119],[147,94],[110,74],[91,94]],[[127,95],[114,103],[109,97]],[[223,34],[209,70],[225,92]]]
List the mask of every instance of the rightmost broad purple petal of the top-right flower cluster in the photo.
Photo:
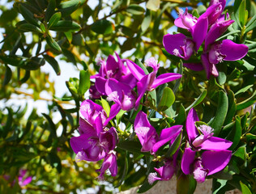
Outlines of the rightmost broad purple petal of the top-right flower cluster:
[[245,44],[236,44],[232,40],[222,40],[220,53],[224,54],[224,61],[237,61],[248,52],[248,47]]

